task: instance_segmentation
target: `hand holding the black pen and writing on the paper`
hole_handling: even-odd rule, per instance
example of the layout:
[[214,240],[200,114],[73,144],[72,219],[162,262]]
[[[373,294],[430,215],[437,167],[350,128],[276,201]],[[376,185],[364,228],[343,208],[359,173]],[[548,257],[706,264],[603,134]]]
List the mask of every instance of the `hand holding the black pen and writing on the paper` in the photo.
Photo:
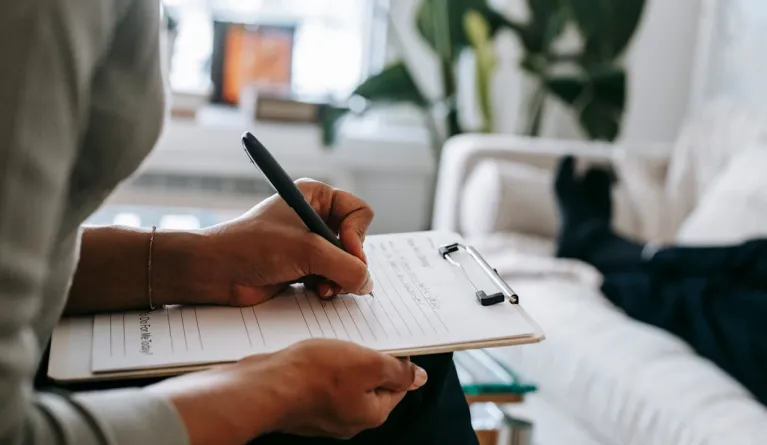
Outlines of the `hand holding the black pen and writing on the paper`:
[[232,221],[203,229],[192,255],[201,303],[261,303],[302,280],[321,297],[373,288],[362,243],[373,210],[356,196],[312,180],[296,181],[307,202],[338,233],[345,251],[309,232],[274,195]]

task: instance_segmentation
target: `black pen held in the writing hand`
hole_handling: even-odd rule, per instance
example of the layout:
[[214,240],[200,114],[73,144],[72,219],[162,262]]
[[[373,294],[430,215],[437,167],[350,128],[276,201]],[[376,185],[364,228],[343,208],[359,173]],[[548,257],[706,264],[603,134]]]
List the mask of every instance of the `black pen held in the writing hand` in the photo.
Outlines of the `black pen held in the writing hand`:
[[[341,240],[330,230],[320,215],[314,211],[311,205],[306,202],[304,195],[298,190],[296,184],[290,179],[285,169],[277,162],[253,134],[246,131],[242,135],[242,147],[248,154],[250,162],[253,163],[266,176],[266,179],[272,184],[280,197],[292,208],[306,224],[306,227],[313,233],[325,238],[329,243],[344,250]],[[370,293],[374,297],[373,293]]]

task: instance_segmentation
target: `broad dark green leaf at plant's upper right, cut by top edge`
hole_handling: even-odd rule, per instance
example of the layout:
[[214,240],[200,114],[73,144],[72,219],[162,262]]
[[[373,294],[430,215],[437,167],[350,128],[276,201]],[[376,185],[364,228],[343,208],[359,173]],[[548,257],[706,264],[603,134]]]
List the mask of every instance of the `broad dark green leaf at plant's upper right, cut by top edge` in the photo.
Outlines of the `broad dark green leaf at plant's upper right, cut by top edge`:
[[625,51],[645,4],[645,0],[565,1],[586,42],[584,60],[589,63],[611,60]]

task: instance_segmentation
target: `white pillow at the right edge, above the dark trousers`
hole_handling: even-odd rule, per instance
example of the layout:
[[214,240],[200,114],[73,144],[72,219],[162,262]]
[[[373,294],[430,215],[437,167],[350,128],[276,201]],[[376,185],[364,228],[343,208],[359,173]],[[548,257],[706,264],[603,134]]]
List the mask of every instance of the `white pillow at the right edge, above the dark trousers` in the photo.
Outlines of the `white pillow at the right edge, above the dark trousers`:
[[767,236],[767,146],[733,158],[677,233],[686,245],[735,244]]

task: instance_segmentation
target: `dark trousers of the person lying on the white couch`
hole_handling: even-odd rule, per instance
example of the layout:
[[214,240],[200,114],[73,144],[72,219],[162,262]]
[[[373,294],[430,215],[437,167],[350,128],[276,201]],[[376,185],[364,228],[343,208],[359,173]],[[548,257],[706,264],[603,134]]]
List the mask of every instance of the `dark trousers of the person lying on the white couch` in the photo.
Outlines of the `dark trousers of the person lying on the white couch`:
[[767,405],[767,239],[670,247],[649,260],[614,235],[593,241],[582,259],[604,274],[608,299],[682,338]]

